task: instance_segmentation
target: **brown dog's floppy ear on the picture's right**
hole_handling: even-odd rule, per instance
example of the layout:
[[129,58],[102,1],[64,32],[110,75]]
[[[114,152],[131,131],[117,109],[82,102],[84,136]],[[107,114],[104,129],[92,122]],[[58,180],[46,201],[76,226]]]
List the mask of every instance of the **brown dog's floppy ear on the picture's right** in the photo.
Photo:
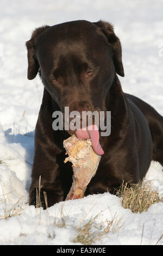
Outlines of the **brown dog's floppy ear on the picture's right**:
[[118,39],[118,37],[115,35],[113,26],[111,25],[111,23],[101,20],[98,22],[94,22],[93,24],[101,28],[101,31],[108,39],[109,44],[112,45],[114,49],[113,61],[116,73],[120,76],[124,76],[121,42],[120,39]]

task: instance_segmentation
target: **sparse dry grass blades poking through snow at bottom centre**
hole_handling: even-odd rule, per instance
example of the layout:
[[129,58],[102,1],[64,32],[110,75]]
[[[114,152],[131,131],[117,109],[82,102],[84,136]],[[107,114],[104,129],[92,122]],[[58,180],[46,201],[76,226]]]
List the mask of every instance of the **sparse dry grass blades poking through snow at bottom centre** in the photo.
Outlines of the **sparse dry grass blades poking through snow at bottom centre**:
[[[71,242],[82,243],[83,245],[92,245],[95,242],[97,243],[108,236],[109,233],[116,233],[123,227],[124,224],[121,224],[122,218],[117,220],[116,214],[111,221],[106,220],[105,222],[99,222],[98,220],[101,213],[95,217],[88,217],[92,208],[81,221],[73,223],[72,218],[64,214],[64,205],[62,205],[60,214],[57,214],[57,216],[54,217],[52,225],[59,228],[71,229],[72,234],[76,234],[72,236]],[[88,220],[86,220],[87,217]]]

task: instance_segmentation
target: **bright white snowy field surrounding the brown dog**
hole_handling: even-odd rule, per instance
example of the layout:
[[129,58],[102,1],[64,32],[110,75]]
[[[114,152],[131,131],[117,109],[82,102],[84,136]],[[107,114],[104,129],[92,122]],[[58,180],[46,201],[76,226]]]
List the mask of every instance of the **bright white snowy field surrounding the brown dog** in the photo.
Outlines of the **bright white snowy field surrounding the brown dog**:
[[[73,242],[76,228],[96,215],[96,227],[115,216],[110,232],[97,240],[97,245],[155,245],[159,241],[163,234],[163,203],[141,214],[122,208],[121,199],[109,193],[61,202],[48,210],[25,204],[43,92],[38,76],[27,80],[25,42],[33,29],[42,25],[79,19],[113,23],[122,42],[125,77],[120,80],[124,92],[140,97],[163,114],[162,14],[162,0],[1,0],[1,245],[79,245]],[[152,162],[147,178],[163,193],[159,163]]]

